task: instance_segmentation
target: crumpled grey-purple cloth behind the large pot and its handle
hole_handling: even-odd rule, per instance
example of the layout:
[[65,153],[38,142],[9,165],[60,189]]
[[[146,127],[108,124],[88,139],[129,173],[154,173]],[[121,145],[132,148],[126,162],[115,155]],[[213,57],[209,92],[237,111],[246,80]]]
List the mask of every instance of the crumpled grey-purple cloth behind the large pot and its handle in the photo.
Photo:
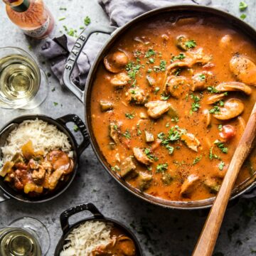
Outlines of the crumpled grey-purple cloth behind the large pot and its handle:
[[[122,26],[132,18],[143,14],[146,11],[159,7],[169,6],[172,4],[204,4],[210,5],[211,0],[98,0],[102,9],[110,17],[110,23],[115,26]],[[43,44],[41,53],[50,60],[53,74],[60,80],[63,85],[62,75],[64,71],[65,60],[75,43],[74,38],[70,36],[60,36],[58,38],[48,39]],[[83,89],[87,73],[90,70],[93,60],[102,43],[91,41],[87,43],[78,58],[78,63],[72,73],[71,79],[75,85]]]

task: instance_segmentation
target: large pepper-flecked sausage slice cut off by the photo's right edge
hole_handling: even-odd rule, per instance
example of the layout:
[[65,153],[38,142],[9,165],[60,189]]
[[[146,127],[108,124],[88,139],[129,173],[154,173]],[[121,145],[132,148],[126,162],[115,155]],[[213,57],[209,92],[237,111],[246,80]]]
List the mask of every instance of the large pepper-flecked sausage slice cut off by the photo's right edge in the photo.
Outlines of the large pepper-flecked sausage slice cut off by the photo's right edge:
[[230,70],[239,81],[256,85],[256,65],[249,58],[235,55],[230,60]]

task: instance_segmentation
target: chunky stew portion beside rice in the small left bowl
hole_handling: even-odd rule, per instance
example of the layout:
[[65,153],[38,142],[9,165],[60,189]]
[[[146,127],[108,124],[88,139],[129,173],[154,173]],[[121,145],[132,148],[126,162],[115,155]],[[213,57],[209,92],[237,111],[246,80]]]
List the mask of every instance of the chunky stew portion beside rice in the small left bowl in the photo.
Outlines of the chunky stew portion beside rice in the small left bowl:
[[31,141],[21,148],[11,161],[4,164],[1,176],[16,191],[28,196],[51,193],[68,179],[73,171],[73,159],[60,149],[44,154],[34,151]]

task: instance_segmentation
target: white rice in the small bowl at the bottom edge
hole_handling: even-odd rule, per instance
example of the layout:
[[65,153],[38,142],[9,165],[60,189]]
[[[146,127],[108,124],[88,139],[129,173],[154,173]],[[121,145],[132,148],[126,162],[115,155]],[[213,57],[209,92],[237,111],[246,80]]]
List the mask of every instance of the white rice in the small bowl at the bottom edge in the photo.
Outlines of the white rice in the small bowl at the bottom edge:
[[112,240],[112,225],[102,221],[87,221],[71,231],[65,239],[67,243],[60,256],[92,256],[100,245],[108,245]]

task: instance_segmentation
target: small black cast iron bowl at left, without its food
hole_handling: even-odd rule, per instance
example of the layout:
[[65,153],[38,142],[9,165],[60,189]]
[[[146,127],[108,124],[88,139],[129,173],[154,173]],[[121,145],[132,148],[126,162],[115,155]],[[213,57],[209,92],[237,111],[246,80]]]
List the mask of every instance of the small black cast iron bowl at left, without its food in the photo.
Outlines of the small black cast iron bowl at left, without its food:
[[[0,196],[0,202],[9,198],[14,198],[18,201],[22,201],[26,203],[41,203],[45,201],[50,201],[51,199],[57,196],[60,196],[60,194],[63,193],[70,186],[73,179],[75,178],[75,175],[77,174],[77,171],[78,171],[79,156],[80,154],[82,154],[82,151],[84,151],[85,148],[90,143],[88,139],[87,131],[85,129],[85,124],[76,114],[67,114],[58,119],[46,117],[45,115],[42,115],[42,114],[31,114],[31,115],[17,117],[11,120],[11,122],[6,124],[1,129],[0,148],[1,146],[4,146],[4,144],[6,143],[6,139],[9,136],[9,133],[13,131],[16,127],[18,127],[18,124],[21,124],[21,122],[25,120],[34,120],[34,119],[41,119],[45,122],[48,122],[48,124],[53,124],[60,130],[60,132],[63,132],[68,136],[68,139],[73,151],[74,170],[68,177],[68,181],[65,181],[65,183],[60,184],[60,186],[53,193],[49,193],[49,194],[46,194],[45,196],[38,196],[38,197],[29,197],[25,193],[15,191],[13,188],[9,186],[9,184],[4,182],[4,178],[0,176],[0,188],[4,192],[4,197],[1,198]],[[82,134],[82,139],[83,139],[81,144],[78,144],[75,141],[75,137],[66,126],[68,122],[73,122],[78,126],[78,129],[80,130]],[[1,151],[0,151],[0,154],[1,154]]]

